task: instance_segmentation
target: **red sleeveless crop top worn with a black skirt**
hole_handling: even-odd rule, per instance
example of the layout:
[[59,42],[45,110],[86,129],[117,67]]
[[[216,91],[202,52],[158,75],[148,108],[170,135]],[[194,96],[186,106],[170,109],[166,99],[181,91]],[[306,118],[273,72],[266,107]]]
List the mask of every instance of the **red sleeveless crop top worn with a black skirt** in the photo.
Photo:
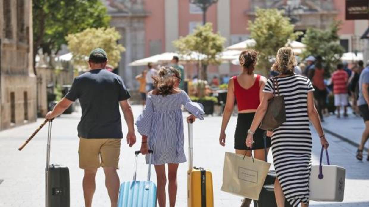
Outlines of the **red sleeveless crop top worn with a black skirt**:
[[260,104],[260,75],[256,76],[254,85],[248,89],[242,88],[237,81],[237,76],[233,76],[234,94],[237,100],[238,111],[257,109]]

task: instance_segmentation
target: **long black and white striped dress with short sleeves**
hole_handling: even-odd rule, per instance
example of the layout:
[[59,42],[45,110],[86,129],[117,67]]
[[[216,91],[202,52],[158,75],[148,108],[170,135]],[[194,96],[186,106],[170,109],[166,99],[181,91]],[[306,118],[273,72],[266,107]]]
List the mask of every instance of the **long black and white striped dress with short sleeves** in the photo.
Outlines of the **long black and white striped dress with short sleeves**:
[[[312,139],[307,93],[314,88],[307,77],[296,74],[277,78],[277,82],[284,95],[286,122],[273,131],[273,161],[284,196],[295,207],[309,201]],[[272,87],[269,79],[264,92],[272,93]]]

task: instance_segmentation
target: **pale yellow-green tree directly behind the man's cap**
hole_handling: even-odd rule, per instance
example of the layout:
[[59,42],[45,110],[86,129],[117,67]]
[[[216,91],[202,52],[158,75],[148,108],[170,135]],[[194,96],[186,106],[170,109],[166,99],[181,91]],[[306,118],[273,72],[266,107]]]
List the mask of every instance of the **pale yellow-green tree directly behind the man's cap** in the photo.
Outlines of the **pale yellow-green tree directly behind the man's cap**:
[[96,47],[103,48],[108,56],[108,61],[113,67],[117,67],[120,61],[120,53],[124,47],[117,43],[121,38],[115,28],[90,28],[82,32],[70,34],[66,37],[68,48],[73,54],[73,63],[79,69],[86,69],[88,56]]

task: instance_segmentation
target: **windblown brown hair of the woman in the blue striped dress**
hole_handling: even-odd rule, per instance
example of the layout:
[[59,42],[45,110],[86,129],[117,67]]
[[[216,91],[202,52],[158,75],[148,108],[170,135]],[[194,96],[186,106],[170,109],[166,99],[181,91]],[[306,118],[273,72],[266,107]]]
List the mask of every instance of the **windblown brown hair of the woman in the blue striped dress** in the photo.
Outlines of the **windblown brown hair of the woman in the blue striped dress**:
[[154,87],[157,95],[166,96],[172,94],[175,90],[175,85],[181,80],[180,72],[173,67],[161,67],[158,76],[152,76]]

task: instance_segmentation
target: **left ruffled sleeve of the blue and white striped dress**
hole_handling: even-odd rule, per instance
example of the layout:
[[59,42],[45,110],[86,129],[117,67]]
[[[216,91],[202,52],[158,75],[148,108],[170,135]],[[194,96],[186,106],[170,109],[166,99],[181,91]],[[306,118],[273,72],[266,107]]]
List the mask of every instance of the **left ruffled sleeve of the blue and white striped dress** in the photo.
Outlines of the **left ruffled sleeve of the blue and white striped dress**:
[[146,107],[141,115],[137,118],[137,131],[141,135],[149,137],[151,132],[152,116],[154,114],[154,105],[151,101],[151,96],[147,96]]

